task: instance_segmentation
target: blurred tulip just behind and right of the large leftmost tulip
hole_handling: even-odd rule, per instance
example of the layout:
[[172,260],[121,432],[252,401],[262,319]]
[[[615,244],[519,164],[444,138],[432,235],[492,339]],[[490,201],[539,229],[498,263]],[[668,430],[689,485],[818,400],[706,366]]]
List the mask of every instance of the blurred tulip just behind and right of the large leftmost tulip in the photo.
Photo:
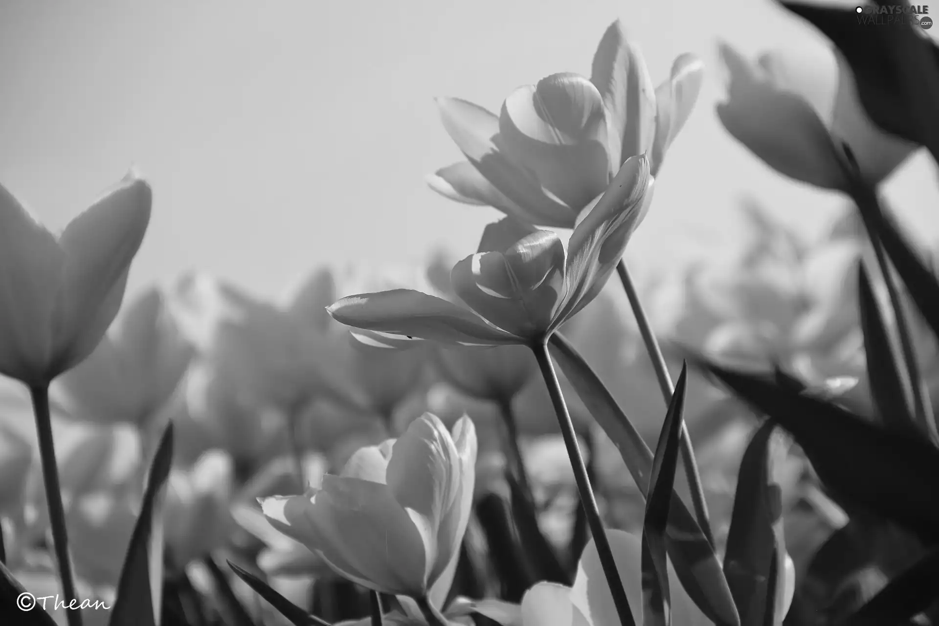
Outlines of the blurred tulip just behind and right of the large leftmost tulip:
[[69,414],[145,426],[166,405],[192,359],[162,293],[147,290],[121,312],[83,363],[54,383]]

